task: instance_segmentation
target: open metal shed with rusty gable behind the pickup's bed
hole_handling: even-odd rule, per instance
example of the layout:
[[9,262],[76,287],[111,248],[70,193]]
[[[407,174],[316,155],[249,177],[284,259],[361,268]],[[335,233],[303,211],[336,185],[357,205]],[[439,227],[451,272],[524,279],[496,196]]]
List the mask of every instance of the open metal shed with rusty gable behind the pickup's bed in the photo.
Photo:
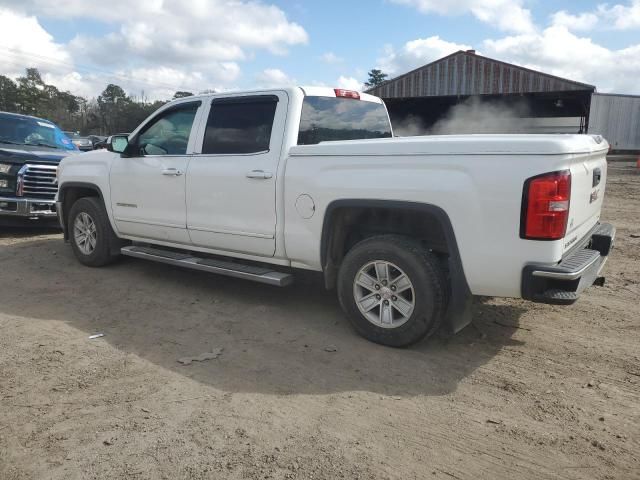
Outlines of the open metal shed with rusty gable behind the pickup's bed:
[[[517,126],[522,131],[578,133],[589,128],[594,91],[593,85],[483,57],[474,50],[461,50],[393,78],[368,93],[385,100],[394,126],[403,126],[407,119],[412,124],[417,120],[424,130],[421,133],[428,133],[452,108],[469,99],[503,107],[489,109],[496,112],[494,116],[509,109],[510,115],[526,117],[529,121]],[[513,123],[508,126],[516,128]]]

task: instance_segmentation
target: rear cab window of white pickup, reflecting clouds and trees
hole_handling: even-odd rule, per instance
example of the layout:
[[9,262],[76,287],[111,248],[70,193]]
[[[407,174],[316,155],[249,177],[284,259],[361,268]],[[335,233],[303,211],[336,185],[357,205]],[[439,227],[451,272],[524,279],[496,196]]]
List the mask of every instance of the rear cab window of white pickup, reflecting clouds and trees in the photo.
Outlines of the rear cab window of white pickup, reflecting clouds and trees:
[[351,98],[305,97],[298,145],[331,140],[391,136],[391,124],[381,103]]

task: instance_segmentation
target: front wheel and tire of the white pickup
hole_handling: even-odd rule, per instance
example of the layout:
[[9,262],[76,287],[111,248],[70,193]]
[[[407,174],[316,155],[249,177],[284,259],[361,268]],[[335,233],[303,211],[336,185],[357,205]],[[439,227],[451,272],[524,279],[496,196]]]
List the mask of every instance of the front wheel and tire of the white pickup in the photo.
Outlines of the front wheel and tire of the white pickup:
[[88,267],[113,263],[120,255],[116,237],[102,202],[96,197],[77,200],[69,211],[67,224],[73,253]]

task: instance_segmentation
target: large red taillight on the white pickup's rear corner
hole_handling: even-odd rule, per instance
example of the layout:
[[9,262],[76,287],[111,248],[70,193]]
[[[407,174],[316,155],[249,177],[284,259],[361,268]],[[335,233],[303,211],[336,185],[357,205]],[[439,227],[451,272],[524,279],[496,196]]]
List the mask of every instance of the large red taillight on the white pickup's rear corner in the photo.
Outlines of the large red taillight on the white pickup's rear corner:
[[545,173],[524,183],[520,237],[559,240],[567,232],[571,172]]

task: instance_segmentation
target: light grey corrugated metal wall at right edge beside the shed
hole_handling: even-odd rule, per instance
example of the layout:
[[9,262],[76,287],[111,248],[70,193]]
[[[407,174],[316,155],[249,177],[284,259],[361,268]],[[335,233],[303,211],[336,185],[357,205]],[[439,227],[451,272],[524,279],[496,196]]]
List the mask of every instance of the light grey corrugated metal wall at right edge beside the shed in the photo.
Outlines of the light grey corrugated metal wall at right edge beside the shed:
[[602,135],[614,150],[640,150],[640,97],[594,93],[589,133]]

